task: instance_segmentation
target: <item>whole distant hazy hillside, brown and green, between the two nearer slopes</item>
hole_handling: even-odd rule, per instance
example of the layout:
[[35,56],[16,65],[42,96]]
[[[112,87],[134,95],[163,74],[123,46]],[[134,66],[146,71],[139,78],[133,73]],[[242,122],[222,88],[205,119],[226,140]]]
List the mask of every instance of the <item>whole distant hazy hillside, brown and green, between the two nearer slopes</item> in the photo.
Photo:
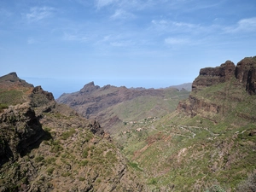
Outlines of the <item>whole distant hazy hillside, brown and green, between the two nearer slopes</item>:
[[177,103],[188,96],[189,91],[184,89],[127,89],[109,84],[100,87],[91,82],[56,101],[67,104],[85,118],[97,119],[105,131],[113,133],[124,122],[171,113]]

